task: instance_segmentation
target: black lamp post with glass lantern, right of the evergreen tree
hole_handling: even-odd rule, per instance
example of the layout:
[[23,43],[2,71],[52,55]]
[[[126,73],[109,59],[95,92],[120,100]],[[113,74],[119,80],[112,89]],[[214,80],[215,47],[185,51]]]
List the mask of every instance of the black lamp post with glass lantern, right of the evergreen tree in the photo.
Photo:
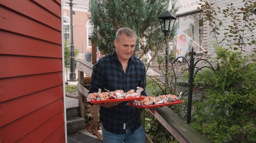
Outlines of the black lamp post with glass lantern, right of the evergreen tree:
[[168,42],[169,42],[169,36],[171,34],[171,31],[173,29],[173,26],[175,24],[175,21],[177,17],[171,13],[170,11],[165,11],[164,13],[160,14],[159,17],[161,29],[164,32],[165,41],[166,41],[166,48],[165,48],[165,83],[168,85],[168,72],[169,72],[169,49],[168,49]]

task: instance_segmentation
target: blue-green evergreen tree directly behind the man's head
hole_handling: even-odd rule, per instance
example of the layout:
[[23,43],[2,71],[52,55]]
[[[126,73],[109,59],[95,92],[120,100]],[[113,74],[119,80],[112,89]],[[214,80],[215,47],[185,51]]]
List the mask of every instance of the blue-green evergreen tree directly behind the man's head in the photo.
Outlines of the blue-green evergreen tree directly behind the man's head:
[[[114,52],[116,32],[121,27],[133,29],[138,40],[136,51],[144,55],[163,42],[159,19],[169,6],[169,0],[90,0],[93,40],[102,54]],[[135,52],[136,53],[136,52]]]

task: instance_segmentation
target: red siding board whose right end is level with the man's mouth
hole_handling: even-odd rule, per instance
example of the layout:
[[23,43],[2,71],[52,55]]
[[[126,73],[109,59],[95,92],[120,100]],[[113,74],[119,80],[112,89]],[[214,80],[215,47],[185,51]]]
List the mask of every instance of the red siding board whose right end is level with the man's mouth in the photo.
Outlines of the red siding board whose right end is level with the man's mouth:
[[[0,31],[1,54],[61,58],[61,45]],[[13,42],[15,39],[15,42]],[[35,50],[36,49],[36,50]]]

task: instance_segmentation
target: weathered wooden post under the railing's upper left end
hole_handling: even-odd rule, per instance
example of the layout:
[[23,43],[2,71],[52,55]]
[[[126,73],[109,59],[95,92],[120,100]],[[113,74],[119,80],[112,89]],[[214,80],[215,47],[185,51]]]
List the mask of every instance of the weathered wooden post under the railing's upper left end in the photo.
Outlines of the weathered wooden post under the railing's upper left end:
[[[84,85],[84,72],[78,71],[78,83]],[[78,92],[79,116],[85,119],[84,95]]]

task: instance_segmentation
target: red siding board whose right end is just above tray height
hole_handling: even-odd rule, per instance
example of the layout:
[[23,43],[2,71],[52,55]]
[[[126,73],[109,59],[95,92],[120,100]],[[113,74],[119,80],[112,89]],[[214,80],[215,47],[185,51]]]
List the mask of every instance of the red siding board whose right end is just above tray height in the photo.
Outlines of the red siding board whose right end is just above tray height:
[[0,79],[0,103],[62,84],[61,72],[3,78]]

